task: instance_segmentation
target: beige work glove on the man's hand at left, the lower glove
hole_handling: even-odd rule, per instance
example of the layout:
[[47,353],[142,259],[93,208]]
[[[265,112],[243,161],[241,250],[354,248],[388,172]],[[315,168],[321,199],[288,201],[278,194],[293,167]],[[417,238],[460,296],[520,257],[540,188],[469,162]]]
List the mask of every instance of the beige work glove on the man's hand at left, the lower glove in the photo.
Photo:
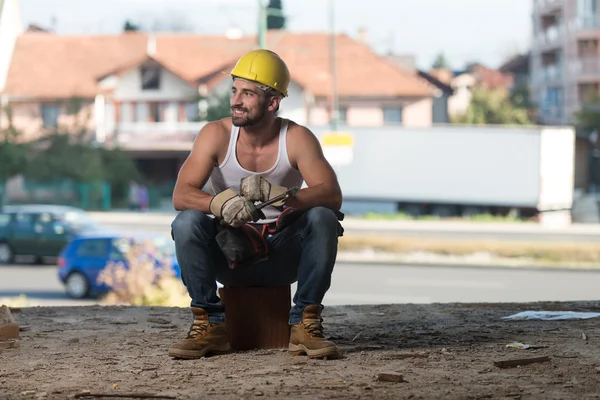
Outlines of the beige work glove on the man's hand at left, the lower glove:
[[254,203],[237,194],[233,189],[225,189],[212,198],[209,204],[210,212],[221,219],[221,224],[239,228],[246,223],[256,222],[265,215],[258,210]]

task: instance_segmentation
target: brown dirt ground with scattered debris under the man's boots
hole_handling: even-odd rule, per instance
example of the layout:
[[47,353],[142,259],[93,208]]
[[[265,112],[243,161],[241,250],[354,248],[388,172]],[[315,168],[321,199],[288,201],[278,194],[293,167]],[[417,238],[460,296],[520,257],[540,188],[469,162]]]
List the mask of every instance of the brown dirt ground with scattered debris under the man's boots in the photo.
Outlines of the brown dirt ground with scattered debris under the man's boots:
[[[0,351],[0,399],[86,390],[175,399],[600,399],[600,318],[502,319],[526,310],[600,311],[600,303],[329,307],[326,334],[343,352],[335,360],[279,349],[172,360],[167,349],[191,322],[186,308],[23,308],[13,316],[30,329],[19,348]],[[547,347],[507,348],[512,342]],[[549,361],[494,364],[542,356]],[[403,382],[378,380],[385,372]]]

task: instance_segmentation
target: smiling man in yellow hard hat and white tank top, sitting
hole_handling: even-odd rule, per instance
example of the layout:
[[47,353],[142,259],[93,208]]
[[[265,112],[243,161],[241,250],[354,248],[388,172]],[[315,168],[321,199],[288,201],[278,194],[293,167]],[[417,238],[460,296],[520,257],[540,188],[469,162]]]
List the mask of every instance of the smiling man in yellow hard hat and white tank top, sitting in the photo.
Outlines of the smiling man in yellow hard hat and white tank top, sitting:
[[[335,357],[337,346],[323,334],[321,302],[343,233],[337,177],[309,129],[275,116],[290,82],[278,55],[251,51],[231,76],[231,118],[201,129],[173,191],[180,213],[172,235],[194,322],[169,355],[230,351],[216,281],[228,287],[297,281],[289,352]],[[303,182],[306,188],[261,208]]]

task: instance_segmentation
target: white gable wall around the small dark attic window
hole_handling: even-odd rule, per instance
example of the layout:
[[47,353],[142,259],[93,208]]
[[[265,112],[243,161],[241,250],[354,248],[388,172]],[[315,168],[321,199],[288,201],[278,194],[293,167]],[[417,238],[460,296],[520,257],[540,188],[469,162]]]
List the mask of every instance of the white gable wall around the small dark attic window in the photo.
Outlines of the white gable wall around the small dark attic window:
[[197,96],[197,89],[172,72],[160,69],[160,88],[142,90],[140,69],[132,69],[118,80],[113,98],[117,101],[185,100]]

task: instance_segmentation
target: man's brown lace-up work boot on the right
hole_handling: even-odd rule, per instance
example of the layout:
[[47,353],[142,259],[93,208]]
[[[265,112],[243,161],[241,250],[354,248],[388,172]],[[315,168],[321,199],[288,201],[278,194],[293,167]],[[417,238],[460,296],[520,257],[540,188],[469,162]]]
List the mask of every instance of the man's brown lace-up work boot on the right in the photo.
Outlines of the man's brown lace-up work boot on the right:
[[325,339],[323,318],[318,304],[307,306],[302,312],[302,322],[292,325],[290,334],[290,354],[306,354],[309,358],[338,357],[337,345]]

